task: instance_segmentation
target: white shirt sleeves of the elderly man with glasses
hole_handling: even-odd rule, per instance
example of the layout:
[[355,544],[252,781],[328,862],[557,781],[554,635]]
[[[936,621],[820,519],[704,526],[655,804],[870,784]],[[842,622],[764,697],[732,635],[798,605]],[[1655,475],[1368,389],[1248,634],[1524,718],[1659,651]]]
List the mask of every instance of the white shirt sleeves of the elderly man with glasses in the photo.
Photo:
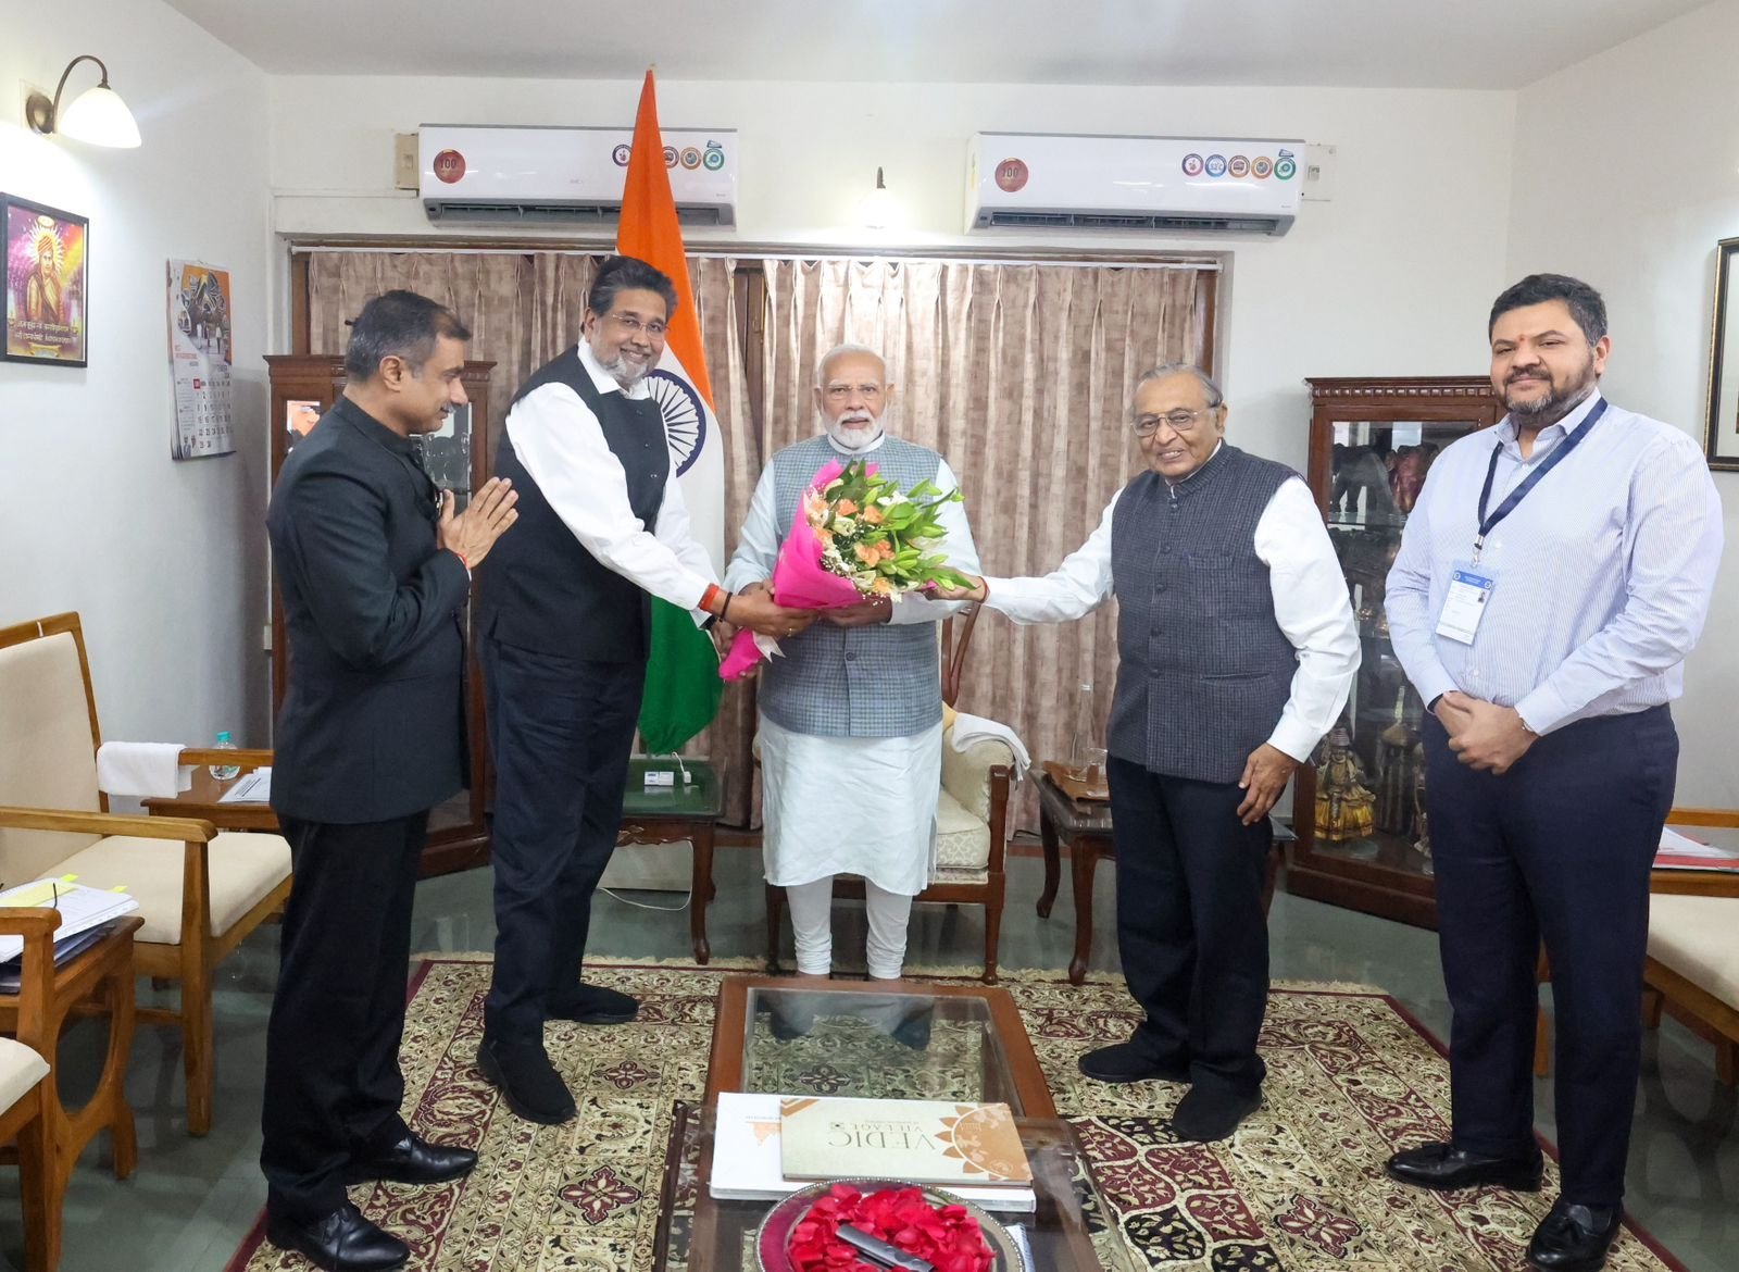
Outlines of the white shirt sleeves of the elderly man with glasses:
[[[1016,623],[1063,623],[1097,609],[1111,595],[1111,515],[1122,496],[1111,496],[1099,529],[1050,574],[984,579],[984,604]],[[1275,491],[1256,522],[1252,546],[1268,566],[1275,621],[1299,656],[1268,743],[1303,764],[1346,706],[1358,672],[1358,626],[1322,510],[1303,479]]]

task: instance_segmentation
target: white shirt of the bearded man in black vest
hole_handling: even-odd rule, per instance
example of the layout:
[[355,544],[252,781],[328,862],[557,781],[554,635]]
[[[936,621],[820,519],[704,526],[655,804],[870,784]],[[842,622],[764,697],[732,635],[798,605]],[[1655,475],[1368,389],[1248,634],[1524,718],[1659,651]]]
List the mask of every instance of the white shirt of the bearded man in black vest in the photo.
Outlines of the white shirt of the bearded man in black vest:
[[[600,393],[623,392],[584,341],[579,362]],[[645,379],[626,392],[633,400],[649,395]],[[508,411],[506,428],[525,472],[586,552],[654,597],[694,611],[697,623],[706,618],[701,597],[718,579],[713,559],[689,529],[675,458],[657,526],[647,527],[628,506],[628,479],[603,440],[598,418],[572,388],[543,385],[532,390]]]

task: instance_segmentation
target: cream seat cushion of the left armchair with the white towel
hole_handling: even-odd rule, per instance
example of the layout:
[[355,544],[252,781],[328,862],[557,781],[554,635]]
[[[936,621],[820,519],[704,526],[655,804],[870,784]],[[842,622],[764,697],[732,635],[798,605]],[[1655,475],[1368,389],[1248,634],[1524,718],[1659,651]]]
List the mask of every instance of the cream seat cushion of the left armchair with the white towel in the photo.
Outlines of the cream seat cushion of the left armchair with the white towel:
[[[134,940],[181,945],[184,853],[186,847],[174,839],[110,835],[66,858],[52,874],[78,875],[87,887],[125,887],[137,898],[144,921]],[[290,846],[282,835],[224,832],[207,844],[205,861],[210,872],[210,934],[223,936],[290,874]]]

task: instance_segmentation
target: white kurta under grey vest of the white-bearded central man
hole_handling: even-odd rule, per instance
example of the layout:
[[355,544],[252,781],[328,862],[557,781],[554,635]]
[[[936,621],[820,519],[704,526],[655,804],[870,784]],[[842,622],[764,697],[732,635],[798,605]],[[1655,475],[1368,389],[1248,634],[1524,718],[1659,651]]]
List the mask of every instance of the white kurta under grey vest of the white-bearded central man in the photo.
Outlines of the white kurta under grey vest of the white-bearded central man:
[[[882,439],[863,451],[871,454]],[[936,472],[943,491],[958,485],[948,463]],[[977,550],[958,503],[937,510],[956,569],[977,574]],[[772,466],[762,473],[725,586],[737,590],[772,576],[783,526],[774,520]],[[894,623],[936,623],[960,602],[903,597]],[[937,651],[937,658],[941,653]],[[936,865],[936,797],[943,788],[943,726],[906,738],[823,738],[783,729],[760,717],[762,858],[767,882],[812,884],[828,875],[861,875],[889,893],[916,896]]]

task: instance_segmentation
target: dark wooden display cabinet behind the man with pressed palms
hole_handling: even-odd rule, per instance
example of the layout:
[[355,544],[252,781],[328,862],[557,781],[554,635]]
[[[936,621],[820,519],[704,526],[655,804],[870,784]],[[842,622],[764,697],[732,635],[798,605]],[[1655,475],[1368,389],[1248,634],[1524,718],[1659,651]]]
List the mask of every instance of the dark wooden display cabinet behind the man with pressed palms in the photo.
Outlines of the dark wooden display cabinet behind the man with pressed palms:
[[[285,456],[339,393],[344,392],[344,358],[337,353],[287,353],[266,358],[271,367],[271,480]],[[466,362],[464,395],[470,405],[449,416],[447,426],[423,439],[423,456],[436,485],[452,491],[459,510],[471,491],[489,479],[489,372],[494,362]],[[283,632],[283,607],[271,590],[271,712],[277,717],[289,675],[290,647]],[[430,839],[423,849],[423,875],[466,870],[489,861],[489,823],[483,816],[489,780],[489,740],[483,733],[483,677],[476,666],[475,632],[466,613],[466,743],[470,790],[463,790],[430,813]]]

